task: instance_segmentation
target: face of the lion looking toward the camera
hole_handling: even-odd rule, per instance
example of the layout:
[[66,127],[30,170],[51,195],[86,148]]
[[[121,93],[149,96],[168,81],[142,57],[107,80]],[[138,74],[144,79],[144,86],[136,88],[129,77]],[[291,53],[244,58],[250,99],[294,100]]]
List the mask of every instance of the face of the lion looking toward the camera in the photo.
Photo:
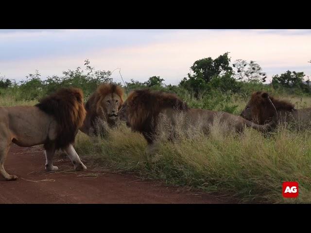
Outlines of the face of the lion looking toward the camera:
[[105,110],[105,113],[109,119],[115,120],[118,116],[122,100],[116,93],[112,93],[106,95],[97,104]]

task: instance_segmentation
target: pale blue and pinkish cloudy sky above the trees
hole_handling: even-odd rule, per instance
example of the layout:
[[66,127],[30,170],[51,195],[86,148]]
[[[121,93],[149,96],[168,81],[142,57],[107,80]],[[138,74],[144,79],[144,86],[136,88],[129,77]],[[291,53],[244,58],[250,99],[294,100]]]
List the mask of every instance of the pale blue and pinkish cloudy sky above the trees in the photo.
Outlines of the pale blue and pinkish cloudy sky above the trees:
[[[270,78],[286,70],[311,75],[311,30],[0,30],[0,76],[20,81],[83,67],[121,68],[125,81],[160,76],[177,84],[204,57],[229,51],[254,60]],[[114,79],[120,80],[118,72]]]

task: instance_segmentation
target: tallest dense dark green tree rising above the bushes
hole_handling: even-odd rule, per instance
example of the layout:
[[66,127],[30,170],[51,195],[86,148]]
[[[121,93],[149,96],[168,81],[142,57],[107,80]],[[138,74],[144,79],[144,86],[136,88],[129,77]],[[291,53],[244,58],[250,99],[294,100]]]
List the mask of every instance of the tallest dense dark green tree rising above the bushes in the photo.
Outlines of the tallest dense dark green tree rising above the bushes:
[[[228,52],[220,55],[216,59],[211,57],[197,60],[190,67],[193,72],[188,73],[188,78],[184,78],[179,84],[184,88],[194,92],[195,96],[198,97],[200,92],[208,91],[212,87],[208,84],[214,78],[221,78],[223,76],[231,76],[233,74],[232,67],[229,66],[230,58]],[[217,83],[217,82],[216,82]],[[226,89],[230,89],[228,85]]]

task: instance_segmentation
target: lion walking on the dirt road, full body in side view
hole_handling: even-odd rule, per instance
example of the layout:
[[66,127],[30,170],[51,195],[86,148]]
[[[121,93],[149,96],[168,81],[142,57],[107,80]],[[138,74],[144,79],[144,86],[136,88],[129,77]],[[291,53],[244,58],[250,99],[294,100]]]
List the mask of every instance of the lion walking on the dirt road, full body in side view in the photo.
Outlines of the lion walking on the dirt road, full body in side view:
[[76,88],[60,89],[35,106],[0,107],[0,174],[7,181],[17,179],[4,169],[12,142],[20,147],[43,144],[46,171],[58,170],[52,161],[58,149],[66,151],[76,170],[86,169],[72,147],[85,116],[83,92]]

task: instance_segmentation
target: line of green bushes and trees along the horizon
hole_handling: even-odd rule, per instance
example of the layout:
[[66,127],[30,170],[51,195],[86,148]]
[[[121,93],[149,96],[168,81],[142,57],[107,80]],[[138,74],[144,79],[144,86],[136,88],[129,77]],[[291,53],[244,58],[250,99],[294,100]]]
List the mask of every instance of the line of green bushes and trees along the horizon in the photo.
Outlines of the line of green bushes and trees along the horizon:
[[[12,95],[17,100],[38,100],[54,92],[60,87],[74,86],[83,89],[86,98],[96,87],[105,82],[114,82],[111,71],[96,70],[85,61],[85,70],[77,67],[75,70],[63,71],[62,76],[49,76],[42,80],[36,70],[26,76],[20,83],[0,77],[0,95]],[[271,83],[266,83],[266,73],[255,61],[237,60],[232,66],[228,52],[219,57],[203,58],[195,61],[190,67],[190,73],[182,78],[178,85],[166,85],[163,77],[153,76],[146,82],[131,80],[129,83],[118,83],[126,92],[133,89],[150,87],[152,89],[174,92],[181,97],[202,99],[208,96],[239,94],[249,96],[255,90],[266,90],[270,93],[288,95],[311,94],[310,80],[306,80],[304,72],[287,71],[272,77]]]

